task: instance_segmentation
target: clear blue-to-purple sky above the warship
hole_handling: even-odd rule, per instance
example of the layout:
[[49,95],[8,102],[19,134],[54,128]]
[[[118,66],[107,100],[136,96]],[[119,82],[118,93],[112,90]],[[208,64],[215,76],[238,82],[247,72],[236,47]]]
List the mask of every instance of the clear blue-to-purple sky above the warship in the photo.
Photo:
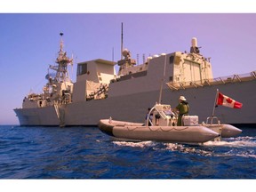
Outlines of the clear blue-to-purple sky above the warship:
[[[163,4],[161,7],[156,4],[155,11],[155,5],[151,4],[141,12],[132,12],[131,5],[124,12],[112,8],[102,12],[105,4],[101,10],[94,7],[96,11],[86,6],[84,12],[81,7],[77,12],[71,8],[66,12],[66,6],[64,11],[58,8],[40,11],[35,4],[32,10],[26,7],[17,11],[11,5],[7,4],[6,10],[0,8],[0,124],[19,124],[13,108],[21,108],[29,92],[42,92],[47,83],[44,78],[47,69],[54,64],[60,49],[60,32],[64,33],[64,50],[75,60],[69,71],[73,82],[78,62],[120,59],[122,22],[124,48],[132,52],[134,59],[139,54],[140,63],[143,54],[148,57],[164,52],[188,52],[192,37],[196,37],[201,54],[211,57],[214,77],[256,70],[256,13],[250,7],[252,13],[237,11],[236,4],[231,13],[207,9],[176,12],[175,6],[170,6],[170,12],[164,8],[163,13]],[[139,8],[136,6],[136,10]]]

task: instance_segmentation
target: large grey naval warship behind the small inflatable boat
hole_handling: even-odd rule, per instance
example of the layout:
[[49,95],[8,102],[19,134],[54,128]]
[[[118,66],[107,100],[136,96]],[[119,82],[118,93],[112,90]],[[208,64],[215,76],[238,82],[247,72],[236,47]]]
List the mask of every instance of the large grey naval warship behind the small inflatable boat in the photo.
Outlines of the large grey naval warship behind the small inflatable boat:
[[175,108],[180,95],[189,102],[189,115],[204,122],[212,116],[217,89],[243,103],[239,109],[214,108],[222,124],[256,124],[256,71],[213,78],[210,59],[200,54],[195,37],[190,52],[154,55],[141,64],[127,49],[117,62],[97,59],[77,63],[73,83],[68,75],[73,60],[63,50],[62,35],[56,64],[48,69],[54,73],[45,76],[43,92],[29,93],[22,108],[14,109],[20,125],[97,125],[109,116],[144,123],[148,108],[156,102]]

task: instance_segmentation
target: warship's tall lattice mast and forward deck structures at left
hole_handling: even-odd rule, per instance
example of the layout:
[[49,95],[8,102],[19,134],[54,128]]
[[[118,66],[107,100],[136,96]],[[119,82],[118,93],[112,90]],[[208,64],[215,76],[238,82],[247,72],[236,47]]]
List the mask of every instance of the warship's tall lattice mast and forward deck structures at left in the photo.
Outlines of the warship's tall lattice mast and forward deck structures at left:
[[[63,36],[60,33],[60,36]],[[72,100],[73,83],[68,74],[68,66],[73,65],[73,59],[69,59],[63,51],[63,41],[60,40],[60,51],[56,59],[57,65],[50,65],[48,74],[45,76],[47,84],[44,85],[43,93],[30,93],[25,97],[22,108],[44,108],[47,106],[60,106],[68,104]],[[50,69],[54,72],[51,73]]]

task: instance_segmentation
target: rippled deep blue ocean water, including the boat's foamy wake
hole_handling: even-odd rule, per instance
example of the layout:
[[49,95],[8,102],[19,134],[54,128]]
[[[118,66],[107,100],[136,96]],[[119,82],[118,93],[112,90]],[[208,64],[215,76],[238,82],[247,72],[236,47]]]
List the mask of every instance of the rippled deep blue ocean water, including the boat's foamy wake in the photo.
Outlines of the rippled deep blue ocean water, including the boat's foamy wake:
[[256,127],[204,146],[111,139],[97,127],[0,126],[0,179],[255,179]]

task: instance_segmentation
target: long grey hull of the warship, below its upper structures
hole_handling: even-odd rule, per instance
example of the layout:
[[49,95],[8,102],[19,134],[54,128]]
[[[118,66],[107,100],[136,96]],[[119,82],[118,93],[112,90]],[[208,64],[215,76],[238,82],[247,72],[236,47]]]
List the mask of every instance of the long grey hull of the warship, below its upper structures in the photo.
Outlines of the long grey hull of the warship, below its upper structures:
[[[175,108],[180,95],[184,95],[189,103],[189,115],[199,116],[199,122],[212,116],[216,90],[243,103],[243,108],[215,108],[214,115],[222,124],[256,124],[255,118],[255,86],[256,81],[236,84],[218,84],[197,88],[172,91],[167,86],[162,93],[162,103],[171,104]],[[56,108],[16,108],[20,125],[97,125],[100,119],[109,118],[120,121],[144,123],[147,109],[155,105],[159,98],[159,90],[139,92],[130,95],[109,97],[104,100],[90,100],[69,103],[60,106],[60,114]]]

